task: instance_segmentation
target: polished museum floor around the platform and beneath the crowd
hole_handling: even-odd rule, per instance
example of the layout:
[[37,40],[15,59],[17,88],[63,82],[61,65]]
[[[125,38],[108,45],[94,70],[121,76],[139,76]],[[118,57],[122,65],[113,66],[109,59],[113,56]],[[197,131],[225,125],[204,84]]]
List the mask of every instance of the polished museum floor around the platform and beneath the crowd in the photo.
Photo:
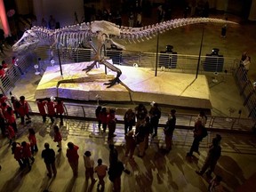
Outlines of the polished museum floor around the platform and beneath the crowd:
[[[220,16],[219,16],[220,17]],[[229,20],[232,20],[232,16]],[[237,20],[234,17],[234,20]],[[255,64],[255,24],[246,23],[242,26],[229,26],[226,38],[220,37],[220,26],[207,26],[205,28],[203,53],[212,52],[213,47],[220,48],[220,53],[228,57],[240,58],[242,52],[247,51],[252,57],[252,67],[249,71],[250,79],[256,80]],[[187,35],[189,33],[189,36]],[[184,35],[185,34],[185,35]],[[164,49],[167,42],[174,46],[174,50],[182,54],[195,54],[199,52],[198,41],[201,39],[202,28],[190,26],[188,28],[177,28],[172,31],[172,42],[169,36],[160,36],[160,50]],[[175,38],[173,38],[175,36]],[[127,45],[126,49],[131,49],[132,45]],[[142,43],[141,46],[133,46],[134,50],[145,50],[145,52],[156,52],[156,42]],[[6,54],[12,55],[12,52]],[[2,55],[1,55],[2,56]],[[40,76],[34,75],[34,68],[31,68],[13,92],[15,95],[25,95],[28,100],[34,100],[36,85]],[[209,78],[210,92],[212,94],[212,114],[228,116],[228,108],[236,108],[236,113],[243,108],[243,100],[239,97],[236,84],[232,76],[228,76],[227,81],[221,84],[212,84],[212,76]],[[37,84],[36,84],[37,82]],[[237,93],[237,94],[236,94]],[[238,96],[237,96],[238,95]],[[248,112],[243,108],[243,116]],[[234,114],[236,116],[237,114]],[[84,178],[85,150],[92,151],[92,159],[95,164],[98,158],[103,159],[103,163],[108,164],[108,142],[106,135],[99,135],[95,122],[84,122],[78,120],[65,120],[61,128],[63,136],[63,150],[57,154],[56,143],[52,141],[51,124],[41,123],[40,116],[32,116],[32,124],[21,127],[17,141],[28,140],[27,129],[33,127],[36,130],[36,137],[39,151],[35,155],[36,161],[32,170],[20,171],[19,164],[14,160],[11,148],[8,147],[8,140],[0,140],[0,191],[43,191],[49,189],[52,192],[59,191],[96,191],[97,183],[87,183]],[[18,120],[19,123],[19,120]],[[143,158],[138,157],[138,150],[135,150],[134,161],[128,161],[124,156],[124,131],[123,125],[118,124],[117,136],[114,139],[115,146],[119,152],[119,158],[127,169],[131,171],[128,175],[122,175],[122,191],[207,191],[208,180],[206,176],[200,177],[195,170],[202,167],[207,155],[207,146],[217,132],[209,132],[201,144],[200,156],[195,154],[192,160],[186,158],[186,153],[192,143],[193,134],[188,130],[176,130],[174,132],[173,147],[169,154],[164,154],[161,150],[163,146],[163,130],[159,131],[156,139],[150,140],[150,146]],[[220,133],[222,136],[222,155],[215,169],[216,174],[223,178],[222,185],[225,191],[236,191],[244,182],[253,182],[256,174],[256,140],[255,135]],[[66,146],[68,141],[79,146],[79,172],[78,177],[72,177],[72,171],[66,157]],[[56,151],[57,176],[49,179],[46,176],[44,161],[41,158],[41,151],[44,142],[49,142]],[[96,177],[96,175],[95,175]],[[111,191],[112,184],[105,179],[105,191]],[[255,181],[255,180],[254,180]],[[253,183],[254,184],[254,183]],[[255,186],[255,184],[254,184]],[[237,191],[255,191],[252,184],[247,185]],[[251,187],[251,188],[250,188]]]

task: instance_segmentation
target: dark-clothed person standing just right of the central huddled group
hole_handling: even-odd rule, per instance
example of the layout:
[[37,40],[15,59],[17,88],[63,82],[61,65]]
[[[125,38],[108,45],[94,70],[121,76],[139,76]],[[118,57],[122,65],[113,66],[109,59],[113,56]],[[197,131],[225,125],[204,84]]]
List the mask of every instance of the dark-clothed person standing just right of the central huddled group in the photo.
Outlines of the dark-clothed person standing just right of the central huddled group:
[[172,109],[171,113],[168,117],[168,121],[166,122],[166,125],[164,127],[165,145],[166,145],[167,152],[172,150],[172,136],[173,136],[173,131],[174,131],[175,125],[176,125],[175,113],[176,113],[176,110]]

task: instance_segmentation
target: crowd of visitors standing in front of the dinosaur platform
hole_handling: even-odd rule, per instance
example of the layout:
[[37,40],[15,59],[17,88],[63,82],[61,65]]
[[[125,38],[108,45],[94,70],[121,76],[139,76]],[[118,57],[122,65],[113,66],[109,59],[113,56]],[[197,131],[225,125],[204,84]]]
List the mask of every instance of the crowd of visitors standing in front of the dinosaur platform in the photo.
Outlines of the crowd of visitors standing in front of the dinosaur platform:
[[[28,167],[28,170],[31,170],[32,164],[35,162],[34,155],[38,152],[37,143],[36,143],[36,132],[33,128],[28,129],[28,140],[23,140],[21,143],[15,141],[15,132],[17,132],[16,114],[17,118],[20,118],[20,124],[31,122],[30,116],[28,113],[28,102],[25,100],[24,96],[20,96],[20,100],[17,100],[16,97],[12,96],[12,107],[9,106],[7,102],[8,98],[4,95],[0,95],[1,108],[1,131],[4,135],[8,136],[10,140],[9,146],[12,146],[12,154],[17,162],[20,164],[20,169]],[[37,100],[37,106],[40,115],[42,116],[43,123],[46,121],[48,116],[51,120],[51,123],[54,122],[55,116],[58,114],[60,116],[60,126],[63,124],[63,113],[64,105],[61,100]],[[10,117],[11,116],[11,117]],[[105,108],[98,106],[95,109],[95,116],[98,121],[99,132],[104,134],[108,132],[108,143],[109,143],[109,165],[102,163],[102,159],[97,160],[98,165],[94,167],[94,160],[91,158],[92,152],[85,151],[84,153],[84,168],[85,168],[85,178],[86,180],[91,180],[92,183],[96,182],[93,174],[97,173],[99,178],[99,183],[97,188],[99,190],[104,190],[105,181],[104,177],[108,173],[108,179],[113,182],[114,191],[120,191],[121,188],[121,175],[122,172],[129,173],[128,170],[124,169],[124,164],[118,159],[118,152],[113,144],[113,138],[116,136],[116,110],[113,108]],[[124,139],[125,139],[125,156],[128,157],[129,161],[134,161],[134,152],[136,147],[138,147],[138,156],[143,158],[146,156],[146,150],[150,145],[148,142],[151,135],[151,140],[154,140],[157,137],[157,130],[159,125],[159,119],[161,118],[161,108],[155,102],[151,103],[151,108],[149,110],[145,107],[144,104],[139,104],[134,109],[128,108],[124,113]],[[188,152],[188,158],[193,158],[193,152],[196,152],[200,155],[198,148],[200,142],[207,136],[207,130],[205,124],[207,121],[207,116],[204,111],[201,111],[195,121],[194,129],[194,141]],[[2,122],[4,126],[2,126]],[[169,153],[172,150],[172,136],[175,130],[176,125],[176,110],[172,109],[170,111],[169,117],[164,126],[164,141],[165,148],[164,152]],[[102,127],[102,129],[101,129]],[[58,125],[52,126],[54,130],[54,139],[58,145],[58,153],[61,152],[61,133]],[[206,130],[206,134],[205,134]],[[206,172],[206,176],[212,178],[212,172],[214,167],[217,164],[218,159],[221,155],[220,148],[220,135],[217,135],[216,138],[212,140],[212,146],[209,148],[208,156],[205,159],[204,165],[201,170],[196,173],[203,175]],[[78,175],[78,153],[79,147],[76,146],[73,142],[68,142],[68,149],[66,156],[68,158],[68,163],[73,171],[74,177]],[[49,143],[44,143],[44,150],[42,150],[42,157],[44,158],[44,163],[47,169],[47,176],[49,178],[56,176],[57,169],[55,166],[55,152],[50,148]],[[221,177],[217,175],[211,184],[219,182],[220,184]],[[221,185],[220,185],[221,186]],[[210,188],[210,187],[209,187]],[[103,191],[102,190],[102,191]]]

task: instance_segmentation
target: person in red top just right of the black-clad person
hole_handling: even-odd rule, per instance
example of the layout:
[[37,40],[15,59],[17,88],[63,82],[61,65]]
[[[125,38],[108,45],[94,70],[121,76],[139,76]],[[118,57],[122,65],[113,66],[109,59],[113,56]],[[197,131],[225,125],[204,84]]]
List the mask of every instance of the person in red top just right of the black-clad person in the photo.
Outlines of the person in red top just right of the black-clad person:
[[79,155],[77,153],[78,146],[74,145],[72,142],[68,142],[68,149],[66,156],[68,157],[68,163],[70,164],[74,177],[78,176],[78,159]]

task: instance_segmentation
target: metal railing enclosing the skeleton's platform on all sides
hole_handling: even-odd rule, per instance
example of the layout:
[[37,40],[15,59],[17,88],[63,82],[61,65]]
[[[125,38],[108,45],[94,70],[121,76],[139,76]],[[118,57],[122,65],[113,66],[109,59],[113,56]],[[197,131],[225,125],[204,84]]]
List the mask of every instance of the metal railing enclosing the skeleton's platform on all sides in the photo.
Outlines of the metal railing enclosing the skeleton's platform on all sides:
[[[56,50],[53,50],[53,52],[57,52]],[[110,52],[110,51],[109,51]],[[107,50],[107,54],[110,55],[110,53]],[[114,53],[113,53],[114,52]],[[113,51],[111,50],[111,54],[113,57],[116,57],[116,52],[119,51]],[[120,54],[119,52],[118,54]],[[61,63],[74,63],[74,62],[81,62],[81,61],[89,61],[92,58],[93,52],[90,49],[77,49],[76,52],[74,50],[62,50],[61,51]],[[168,56],[168,60],[166,61],[166,57],[163,59],[163,57],[159,57],[159,63],[167,66],[158,66],[162,70],[172,70],[173,72],[190,72],[190,73],[196,73],[196,65],[198,62],[198,56],[195,55],[181,55],[177,54],[177,58],[173,61],[173,55],[172,54],[166,54],[166,53],[160,53],[160,56]],[[111,55],[110,55],[111,56]],[[120,56],[120,55],[119,55]],[[207,67],[207,62],[205,61],[207,56],[202,57],[202,62],[200,65],[200,71],[201,73],[207,73],[214,71],[214,68],[219,68],[219,60],[215,60],[214,67],[208,68],[209,70],[205,70],[205,67]],[[52,56],[49,51],[49,47],[39,47],[36,52],[28,52],[23,57],[19,57],[18,66],[11,66],[7,69],[7,78],[2,79],[0,82],[0,86],[2,89],[2,92],[8,92],[12,89],[12,86],[20,79],[21,73],[26,73],[28,68],[31,67],[31,63],[37,63],[38,58],[41,58],[42,61],[47,61],[50,63],[50,59],[52,59]],[[211,56],[211,59],[214,58]],[[55,59],[55,58],[54,58]],[[114,58],[116,61],[119,60],[120,65],[128,65],[133,66],[134,63],[137,63],[139,66],[144,68],[155,68],[156,63],[156,53],[152,52],[127,52],[122,51],[122,55],[120,57]],[[113,59],[113,60],[114,60]],[[164,61],[163,61],[163,60]],[[218,59],[218,58],[217,58]],[[232,72],[234,74],[234,77],[236,79],[236,84],[240,88],[240,93],[244,98],[244,106],[246,106],[250,111],[250,117],[252,119],[256,119],[256,95],[253,91],[252,83],[247,79],[247,76],[244,76],[244,69],[243,68],[237,68],[237,60],[234,60],[234,58],[223,58],[224,61],[220,61],[221,65],[223,66],[221,68],[225,68],[225,70],[228,70],[229,72]],[[58,59],[56,60],[58,62]],[[116,62],[115,61],[115,62]],[[166,64],[167,63],[167,64]],[[171,63],[171,65],[169,65]],[[174,64],[173,64],[174,63]],[[34,65],[33,65],[34,66]],[[175,68],[174,68],[175,66]],[[164,68],[163,68],[164,67]],[[40,70],[40,69],[39,69]],[[34,105],[31,105],[31,111],[32,112],[38,112]],[[81,117],[81,118],[94,118],[94,109],[89,110],[93,111],[91,113],[88,113],[89,106],[77,106],[77,105],[71,105],[66,104],[66,111],[67,116],[70,117]],[[124,112],[124,109],[122,110]],[[91,116],[90,114],[93,114]],[[89,115],[89,116],[88,116]],[[122,116],[122,115],[121,115]],[[179,118],[180,117],[180,118]],[[182,117],[182,118],[181,118]],[[194,119],[196,118],[195,115],[182,115],[178,114],[177,118],[178,124],[180,128],[182,127],[192,127],[194,124]],[[121,121],[120,117],[120,121]],[[162,118],[164,119],[164,118]],[[251,130],[252,126],[254,125],[254,122],[252,119],[239,119],[239,118],[226,118],[223,116],[211,116],[208,120],[208,128],[211,129],[228,129],[228,130]],[[164,119],[165,121],[166,119]],[[160,121],[160,123],[163,125],[165,122]],[[192,125],[191,125],[192,124]],[[254,125],[255,126],[255,125]]]

